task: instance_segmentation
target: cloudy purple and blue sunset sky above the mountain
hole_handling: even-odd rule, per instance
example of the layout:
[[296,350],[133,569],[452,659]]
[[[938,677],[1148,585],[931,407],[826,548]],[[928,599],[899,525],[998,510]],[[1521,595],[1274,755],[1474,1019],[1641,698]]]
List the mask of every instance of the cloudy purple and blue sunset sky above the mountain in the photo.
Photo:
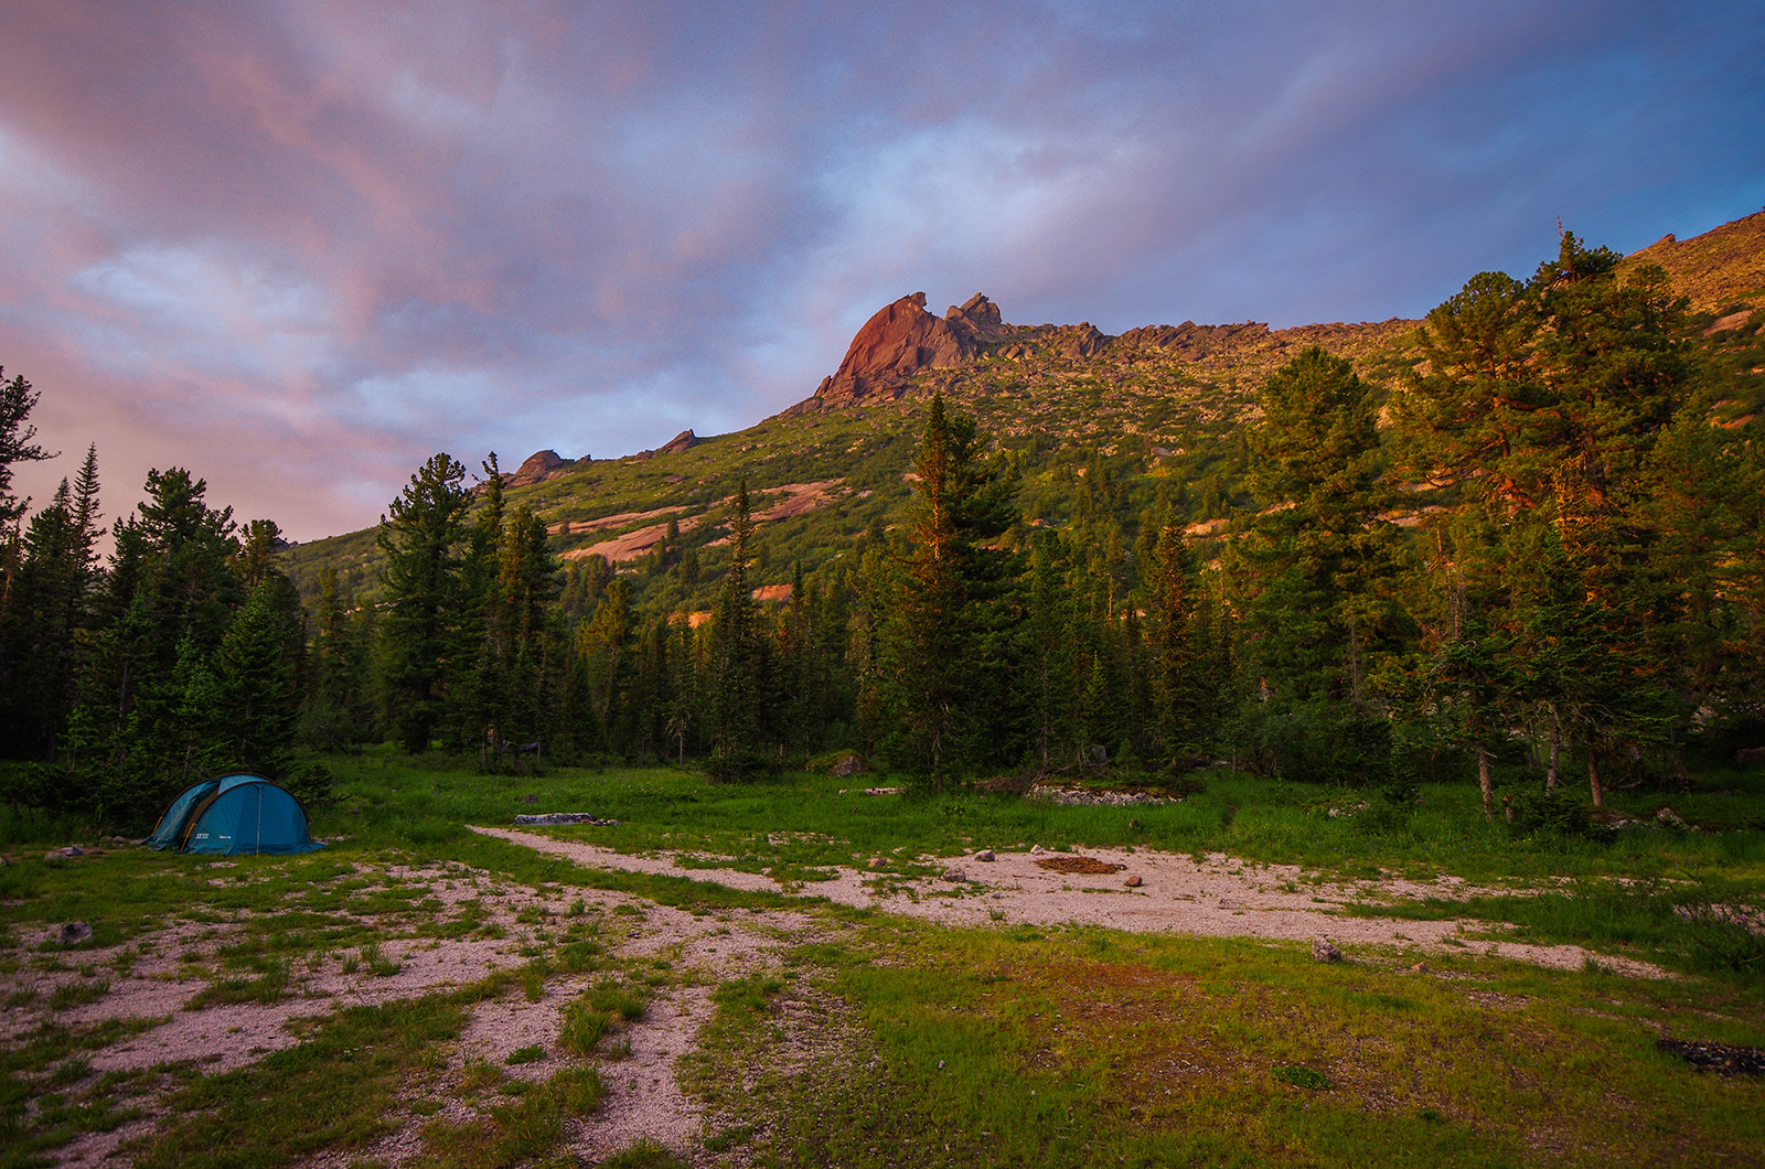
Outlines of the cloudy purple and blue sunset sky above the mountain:
[[897,297],[1423,316],[1765,205],[1765,4],[7,0],[0,366],[298,540],[808,397]]

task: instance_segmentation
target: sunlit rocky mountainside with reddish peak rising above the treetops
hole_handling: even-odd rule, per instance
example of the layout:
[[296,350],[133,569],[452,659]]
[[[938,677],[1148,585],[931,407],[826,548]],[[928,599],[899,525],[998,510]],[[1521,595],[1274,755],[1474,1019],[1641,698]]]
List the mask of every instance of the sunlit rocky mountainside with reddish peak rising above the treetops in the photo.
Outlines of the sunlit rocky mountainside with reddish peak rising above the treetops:
[[[1751,311],[1765,286],[1761,256],[1765,214],[1693,240],[1668,237],[1627,261],[1661,263],[1693,297],[1694,336],[1735,387],[1719,404],[1728,426],[1749,422],[1765,404],[1765,314]],[[1096,470],[1089,489],[1105,486],[1119,517],[1158,505],[1209,532],[1234,503],[1248,503],[1244,426],[1257,417],[1255,396],[1269,373],[1320,344],[1389,385],[1414,362],[1417,325],[1183,321],[1112,337],[1084,321],[1013,325],[985,295],[943,316],[925,305],[925,293],[913,293],[881,307],[812,396],[745,431],[685,431],[620,459],[568,461],[542,450],[505,473],[508,498],[547,519],[567,562],[604,556],[632,576],[646,604],[702,607],[720,574],[722,516],[743,479],[761,517],[757,583],[784,583],[792,563],[815,569],[872,524],[895,523],[909,498],[921,411],[943,392],[1018,459],[1025,526],[1068,523],[1080,480]],[[1726,311],[1721,320],[1717,309]],[[455,454],[468,466],[477,457]],[[665,572],[683,558],[692,572]],[[374,533],[291,549],[288,563],[307,593],[319,569],[334,567],[346,590],[367,599],[378,570]]]

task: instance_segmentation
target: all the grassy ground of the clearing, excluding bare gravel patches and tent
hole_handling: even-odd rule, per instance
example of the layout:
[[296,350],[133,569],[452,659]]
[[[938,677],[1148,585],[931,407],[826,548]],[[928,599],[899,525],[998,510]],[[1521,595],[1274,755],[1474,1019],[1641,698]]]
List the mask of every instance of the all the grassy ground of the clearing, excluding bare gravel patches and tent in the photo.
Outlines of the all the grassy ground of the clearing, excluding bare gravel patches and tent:
[[[1560,833],[1488,825],[1474,788],[1414,807],[1225,770],[1183,803],[1055,807],[1015,795],[867,796],[888,777],[791,775],[715,786],[669,768],[482,775],[445,759],[328,759],[334,805],[305,856],[207,860],[86,839],[72,823],[4,821],[0,973],[58,977],[5,999],[0,1165],[55,1164],[86,1132],[157,1118],[122,1153],[139,1165],[284,1165],[365,1157],[418,1123],[404,1164],[577,1164],[575,1118],[607,1107],[625,1028],[655,996],[697,987],[711,1010],[678,1075],[708,1118],[692,1148],[635,1143],[623,1165],[1733,1165],[1765,1157],[1758,1081],[1700,1072],[1657,1037],[1765,1045],[1765,950],[1733,908],[1765,894],[1765,777],[1719,773],[1684,793],[1622,793],[1638,818],[1670,805],[1710,828]],[[1356,816],[1329,809],[1368,807]],[[588,871],[464,830],[521,812],[582,811],[618,826],[547,830],[621,851],[699,851],[780,883],[748,894],[671,876]],[[1659,823],[1659,821],[1656,821]],[[1670,978],[1498,961],[1467,945],[1350,952],[1303,945],[999,924],[948,929],[814,901],[831,865],[884,858],[934,874],[964,849],[1131,846],[1297,864],[1326,876],[1454,874],[1461,904],[1366,913],[1481,918],[1504,938],[1645,959]],[[104,849],[102,855],[97,855]],[[445,901],[443,885],[455,901]],[[469,885],[473,899],[457,901]],[[461,886],[461,888],[455,888]],[[496,890],[526,890],[498,924]],[[787,897],[801,892],[808,899]],[[482,895],[478,895],[482,894]],[[621,901],[607,908],[609,895]],[[635,899],[635,901],[634,901]],[[685,962],[623,954],[642,904],[718,931],[807,911],[815,941],[782,964],[704,984]],[[95,936],[41,938],[69,920]],[[203,989],[184,1010],[274,1003],[304,969],[397,973],[411,947],[494,939],[510,955],[408,999],[298,1021],[300,1042],[231,1072],[166,1063],[94,1072],[118,1037],[164,1017],[62,1022],[102,1001],[168,924],[228,929],[185,955]],[[1476,936],[1476,929],[1470,931]],[[83,954],[104,950],[106,964]],[[388,969],[390,968],[390,969]],[[556,1051],[461,1060],[485,1003],[537,1003],[568,984]],[[16,1019],[42,1021],[18,1033]],[[35,1015],[34,1015],[35,1017]],[[630,1042],[625,1042],[625,1052]],[[805,1054],[805,1044],[808,1054]],[[526,1052],[526,1054],[522,1054]],[[556,1056],[531,1081],[522,1060]],[[547,1065],[551,1067],[551,1065]],[[118,1104],[134,1100],[134,1104]],[[141,1102],[146,1104],[141,1104]],[[459,1102],[471,1104],[457,1114]]]

